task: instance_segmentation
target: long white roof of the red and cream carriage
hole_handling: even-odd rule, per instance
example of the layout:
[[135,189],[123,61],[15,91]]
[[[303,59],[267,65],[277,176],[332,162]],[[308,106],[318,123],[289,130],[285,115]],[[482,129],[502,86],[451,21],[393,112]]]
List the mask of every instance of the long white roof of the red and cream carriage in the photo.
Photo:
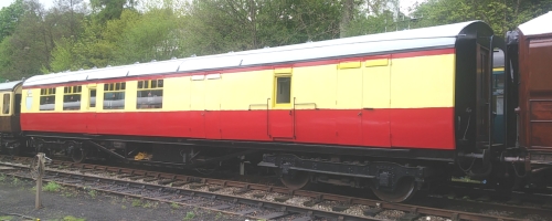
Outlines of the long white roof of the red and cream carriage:
[[216,69],[244,67],[291,61],[312,61],[358,54],[379,54],[416,49],[453,46],[458,34],[473,23],[469,21],[440,27],[413,29],[397,32],[308,42],[286,46],[250,50],[217,55],[187,57],[162,62],[149,62],[105,69],[38,75],[26,80],[23,86],[115,78],[150,74],[171,74]]

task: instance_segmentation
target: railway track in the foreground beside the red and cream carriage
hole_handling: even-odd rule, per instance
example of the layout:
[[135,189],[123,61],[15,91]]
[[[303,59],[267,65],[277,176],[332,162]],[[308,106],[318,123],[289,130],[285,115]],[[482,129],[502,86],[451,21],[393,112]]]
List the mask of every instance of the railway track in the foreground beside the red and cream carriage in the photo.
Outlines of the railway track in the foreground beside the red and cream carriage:
[[[9,176],[30,179],[32,158],[0,156],[0,165],[15,168]],[[289,190],[258,183],[198,178],[184,175],[152,172],[119,167],[53,161],[46,168],[44,181],[89,188],[107,193],[124,194],[182,206],[193,206],[248,219],[264,220],[524,220],[463,210],[440,209],[449,203],[466,203],[445,198],[429,204],[388,203],[322,192]],[[459,206],[457,204],[457,206]],[[470,207],[497,211],[552,215],[548,209],[469,202]]]

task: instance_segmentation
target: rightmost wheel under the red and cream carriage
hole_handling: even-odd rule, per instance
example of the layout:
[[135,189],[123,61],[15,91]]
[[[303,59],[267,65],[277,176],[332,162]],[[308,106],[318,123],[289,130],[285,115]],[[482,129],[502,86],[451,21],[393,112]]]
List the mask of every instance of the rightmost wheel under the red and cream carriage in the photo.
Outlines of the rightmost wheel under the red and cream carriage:
[[396,183],[395,191],[386,191],[372,188],[374,194],[383,201],[404,202],[410,200],[416,192],[414,178],[403,178]]

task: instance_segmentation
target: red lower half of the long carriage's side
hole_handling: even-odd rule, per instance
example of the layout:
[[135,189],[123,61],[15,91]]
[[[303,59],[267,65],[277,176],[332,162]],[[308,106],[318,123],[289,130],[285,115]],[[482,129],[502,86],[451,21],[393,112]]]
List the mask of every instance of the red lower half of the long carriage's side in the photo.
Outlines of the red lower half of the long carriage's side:
[[454,149],[454,108],[22,114],[25,131]]

